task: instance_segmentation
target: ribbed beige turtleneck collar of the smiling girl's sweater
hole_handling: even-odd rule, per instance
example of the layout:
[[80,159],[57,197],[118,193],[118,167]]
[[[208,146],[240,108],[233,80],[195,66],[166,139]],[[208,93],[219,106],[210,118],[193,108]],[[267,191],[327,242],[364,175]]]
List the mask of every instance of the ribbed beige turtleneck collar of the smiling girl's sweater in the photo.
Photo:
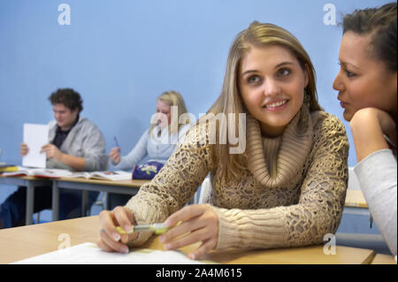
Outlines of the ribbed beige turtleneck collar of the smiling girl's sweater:
[[264,187],[282,187],[295,179],[311,147],[312,123],[305,105],[276,138],[262,137],[259,122],[248,114],[249,171]]

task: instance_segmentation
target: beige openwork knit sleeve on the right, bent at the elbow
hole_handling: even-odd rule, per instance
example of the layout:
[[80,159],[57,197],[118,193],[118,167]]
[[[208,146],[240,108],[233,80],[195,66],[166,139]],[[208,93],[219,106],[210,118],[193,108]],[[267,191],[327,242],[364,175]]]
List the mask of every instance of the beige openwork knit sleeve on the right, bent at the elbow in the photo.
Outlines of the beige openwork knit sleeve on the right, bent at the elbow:
[[298,202],[258,210],[214,208],[218,249],[306,246],[337,230],[348,182],[348,140],[337,118],[325,118],[316,127]]

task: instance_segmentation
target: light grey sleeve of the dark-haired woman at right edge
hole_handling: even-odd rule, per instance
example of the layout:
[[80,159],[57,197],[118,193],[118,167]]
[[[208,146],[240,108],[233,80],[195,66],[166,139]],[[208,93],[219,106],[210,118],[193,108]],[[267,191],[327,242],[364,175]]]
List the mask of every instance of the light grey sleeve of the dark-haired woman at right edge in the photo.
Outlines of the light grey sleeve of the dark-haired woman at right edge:
[[381,149],[366,156],[354,171],[374,222],[396,255],[397,164],[392,151]]

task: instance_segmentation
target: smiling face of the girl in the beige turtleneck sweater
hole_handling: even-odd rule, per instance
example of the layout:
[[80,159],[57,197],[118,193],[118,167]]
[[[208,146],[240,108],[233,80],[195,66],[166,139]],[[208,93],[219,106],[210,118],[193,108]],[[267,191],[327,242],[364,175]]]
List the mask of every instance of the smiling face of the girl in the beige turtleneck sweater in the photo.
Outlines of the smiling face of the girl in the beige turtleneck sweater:
[[300,111],[308,72],[284,47],[252,47],[241,59],[238,80],[246,108],[263,135],[272,137],[283,133]]

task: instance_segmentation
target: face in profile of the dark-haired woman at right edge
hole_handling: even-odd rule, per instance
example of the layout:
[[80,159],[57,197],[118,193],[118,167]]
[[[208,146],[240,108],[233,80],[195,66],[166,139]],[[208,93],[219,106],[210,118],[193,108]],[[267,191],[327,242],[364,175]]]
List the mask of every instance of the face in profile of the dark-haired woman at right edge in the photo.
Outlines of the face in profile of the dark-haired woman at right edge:
[[396,117],[396,72],[389,72],[371,56],[371,35],[348,31],[342,36],[339,60],[341,69],[333,82],[343,116],[351,120],[356,111],[374,107]]

